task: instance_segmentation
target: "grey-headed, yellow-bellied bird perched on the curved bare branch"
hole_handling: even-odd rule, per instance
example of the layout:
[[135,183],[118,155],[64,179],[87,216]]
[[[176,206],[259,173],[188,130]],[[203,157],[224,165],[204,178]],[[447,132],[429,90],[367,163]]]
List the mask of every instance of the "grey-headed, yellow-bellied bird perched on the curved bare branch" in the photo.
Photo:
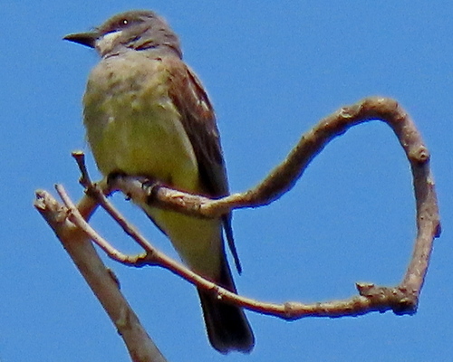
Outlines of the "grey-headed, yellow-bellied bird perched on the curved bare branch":
[[[132,10],[63,39],[94,48],[101,57],[82,104],[86,138],[102,175],[146,176],[192,194],[229,195],[213,106],[162,17]],[[224,242],[225,234],[240,273],[231,213],[203,219],[139,206],[192,271],[236,293]],[[255,337],[244,310],[199,288],[198,295],[213,348],[249,353]]]

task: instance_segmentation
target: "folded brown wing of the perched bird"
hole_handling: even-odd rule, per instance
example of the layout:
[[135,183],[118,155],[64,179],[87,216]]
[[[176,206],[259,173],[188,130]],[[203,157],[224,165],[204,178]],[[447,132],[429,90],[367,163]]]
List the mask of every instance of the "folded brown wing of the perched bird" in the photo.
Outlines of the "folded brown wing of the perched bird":
[[[222,197],[229,194],[226,167],[220,146],[216,115],[197,75],[178,58],[166,60],[169,65],[169,96],[176,105],[181,122],[198,161],[198,172],[207,195]],[[223,224],[228,246],[233,254],[236,269],[242,271],[236,252],[231,227],[231,213]]]

